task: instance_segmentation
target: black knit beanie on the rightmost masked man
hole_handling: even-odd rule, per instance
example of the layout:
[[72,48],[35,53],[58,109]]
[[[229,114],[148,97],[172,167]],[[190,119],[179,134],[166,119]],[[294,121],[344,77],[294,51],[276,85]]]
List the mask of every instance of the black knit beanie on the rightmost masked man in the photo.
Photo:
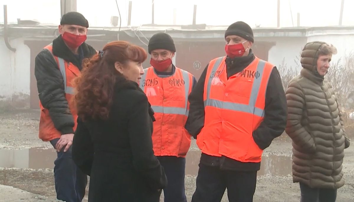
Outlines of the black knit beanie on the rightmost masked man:
[[235,22],[227,28],[225,31],[225,38],[230,35],[240,36],[248,41],[251,41],[252,43],[255,41],[253,39],[252,28],[250,25],[242,21]]

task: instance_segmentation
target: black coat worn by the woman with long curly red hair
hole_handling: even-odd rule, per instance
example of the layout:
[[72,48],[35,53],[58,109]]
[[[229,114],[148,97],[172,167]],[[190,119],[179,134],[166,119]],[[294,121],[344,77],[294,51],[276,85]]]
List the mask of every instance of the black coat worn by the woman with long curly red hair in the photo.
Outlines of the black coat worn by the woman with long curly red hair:
[[90,175],[89,202],[158,202],[167,179],[153,152],[152,109],[135,82],[115,87],[108,120],[83,122],[73,160]]

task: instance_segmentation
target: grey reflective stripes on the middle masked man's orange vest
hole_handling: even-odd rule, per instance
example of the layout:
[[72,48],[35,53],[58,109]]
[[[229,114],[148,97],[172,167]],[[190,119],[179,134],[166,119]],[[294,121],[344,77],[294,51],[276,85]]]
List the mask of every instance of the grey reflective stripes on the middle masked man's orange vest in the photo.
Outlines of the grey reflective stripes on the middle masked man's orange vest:
[[[144,69],[144,74],[142,75],[139,82],[139,87],[144,91],[144,86],[143,83],[146,81],[146,75],[147,71],[149,68]],[[155,70],[153,70],[155,71]],[[176,70],[177,71],[177,70]],[[151,108],[154,110],[154,112],[157,113],[165,113],[165,114],[180,114],[180,115],[186,115],[188,116],[189,110],[188,110],[188,93],[189,93],[189,73],[187,71],[182,70],[182,75],[183,75],[183,80],[184,80],[184,93],[185,93],[185,103],[184,107],[164,107],[164,106],[151,106]],[[156,72],[155,72],[156,73]]]

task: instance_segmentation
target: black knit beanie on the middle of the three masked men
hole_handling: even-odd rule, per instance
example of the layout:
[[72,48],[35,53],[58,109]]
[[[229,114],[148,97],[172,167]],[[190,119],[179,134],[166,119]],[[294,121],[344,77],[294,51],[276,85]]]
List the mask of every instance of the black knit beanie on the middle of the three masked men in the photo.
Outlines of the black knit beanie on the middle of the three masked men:
[[172,52],[176,52],[175,43],[173,43],[172,37],[163,32],[154,34],[149,40],[149,54],[151,54],[151,52],[156,49],[166,49]]

